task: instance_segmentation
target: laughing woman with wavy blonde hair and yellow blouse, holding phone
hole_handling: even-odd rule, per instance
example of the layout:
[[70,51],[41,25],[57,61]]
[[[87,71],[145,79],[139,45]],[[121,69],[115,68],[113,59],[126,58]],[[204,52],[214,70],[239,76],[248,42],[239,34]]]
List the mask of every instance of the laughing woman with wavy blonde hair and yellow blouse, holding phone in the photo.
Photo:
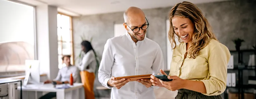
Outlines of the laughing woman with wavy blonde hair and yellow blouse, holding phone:
[[169,16],[168,35],[173,56],[168,79],[173,80],[166,82],[152,75],[150,81],[154,86],[178,90],[175,99],[221,99],[227,82],[229,49],[217,40],[207,19],[194,4],[178,3]]

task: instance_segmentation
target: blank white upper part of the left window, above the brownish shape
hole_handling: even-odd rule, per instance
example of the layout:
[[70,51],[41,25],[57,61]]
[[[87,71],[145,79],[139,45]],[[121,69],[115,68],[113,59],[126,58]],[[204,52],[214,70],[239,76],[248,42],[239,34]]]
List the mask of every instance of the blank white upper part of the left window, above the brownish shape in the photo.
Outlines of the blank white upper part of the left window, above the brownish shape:
[[26,41],[34,45],[34,8],[0,0],[0,42]]

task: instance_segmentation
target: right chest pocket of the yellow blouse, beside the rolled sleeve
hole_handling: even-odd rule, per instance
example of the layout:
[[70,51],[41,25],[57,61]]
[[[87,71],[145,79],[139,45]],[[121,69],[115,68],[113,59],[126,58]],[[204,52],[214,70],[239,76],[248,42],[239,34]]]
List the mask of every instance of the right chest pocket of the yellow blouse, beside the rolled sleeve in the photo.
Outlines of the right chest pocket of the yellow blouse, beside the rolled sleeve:
[[208,68],[207,64],[207,60],[200,56],[195,59],[187,58],[182,66],[182,73],[189,78],[202,78],[204,68]]

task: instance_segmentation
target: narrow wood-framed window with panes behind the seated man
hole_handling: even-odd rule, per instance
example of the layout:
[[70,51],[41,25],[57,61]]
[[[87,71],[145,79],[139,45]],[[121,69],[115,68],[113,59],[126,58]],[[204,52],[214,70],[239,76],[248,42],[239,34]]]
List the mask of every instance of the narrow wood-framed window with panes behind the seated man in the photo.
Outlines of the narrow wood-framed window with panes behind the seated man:
[[57,35],[58,35],[58,62],[59,69],[65,67],[62,63],[63,55],[70,55],[71,64],[74,64],[73,40],[72,40],[72,17],[57,14]]

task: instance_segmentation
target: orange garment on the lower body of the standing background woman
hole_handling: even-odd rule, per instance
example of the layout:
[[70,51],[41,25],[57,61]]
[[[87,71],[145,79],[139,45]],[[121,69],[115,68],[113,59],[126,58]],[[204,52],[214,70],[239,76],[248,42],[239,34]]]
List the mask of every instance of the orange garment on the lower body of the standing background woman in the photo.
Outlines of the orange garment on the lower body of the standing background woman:
[[95,99],[93,92],[93,84],[95,79],[94,73],[90,73],[88,71],[80,71],[80,75],[85,89],[86,99]]

